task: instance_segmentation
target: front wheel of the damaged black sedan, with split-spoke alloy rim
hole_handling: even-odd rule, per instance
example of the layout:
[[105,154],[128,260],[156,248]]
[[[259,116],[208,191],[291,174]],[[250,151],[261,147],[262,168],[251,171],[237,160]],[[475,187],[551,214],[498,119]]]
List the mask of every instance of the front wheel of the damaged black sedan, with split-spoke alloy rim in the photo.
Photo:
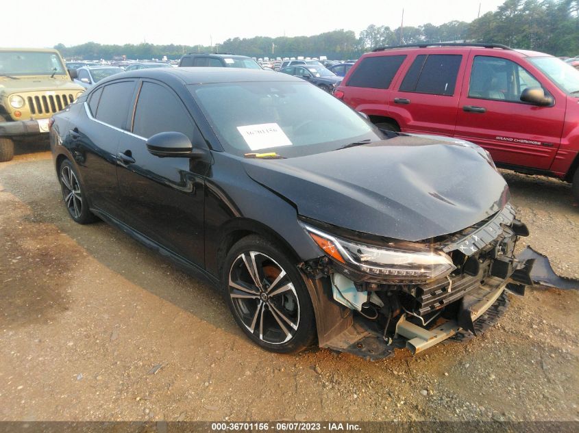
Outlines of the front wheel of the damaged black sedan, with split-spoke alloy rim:
[[245,335],[271,352],[304,350],[315,338],[310,294],[295,261],[257,235],[238,241],[223,267],[227,305]]

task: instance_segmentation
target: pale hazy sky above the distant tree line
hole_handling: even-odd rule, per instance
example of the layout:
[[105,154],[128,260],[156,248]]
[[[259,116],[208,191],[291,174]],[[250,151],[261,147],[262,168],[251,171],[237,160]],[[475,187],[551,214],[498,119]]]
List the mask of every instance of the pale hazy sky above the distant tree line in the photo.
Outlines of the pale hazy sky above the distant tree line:
[[219,44],[228,38],[311,36],[336,29],[356,36],[370,24],[399,27],[470,22],[504,0],[3,0],[3,47],[101,44]]

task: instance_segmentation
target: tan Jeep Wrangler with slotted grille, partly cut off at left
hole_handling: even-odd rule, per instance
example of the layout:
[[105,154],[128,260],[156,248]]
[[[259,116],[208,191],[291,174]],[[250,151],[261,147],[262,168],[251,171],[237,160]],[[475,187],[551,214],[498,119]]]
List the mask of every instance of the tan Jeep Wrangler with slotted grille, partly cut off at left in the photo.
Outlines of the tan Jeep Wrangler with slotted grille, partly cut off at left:
[[54,49],[0,48],[0,162],[14,142],[47,142],[49,118],[84,91]]

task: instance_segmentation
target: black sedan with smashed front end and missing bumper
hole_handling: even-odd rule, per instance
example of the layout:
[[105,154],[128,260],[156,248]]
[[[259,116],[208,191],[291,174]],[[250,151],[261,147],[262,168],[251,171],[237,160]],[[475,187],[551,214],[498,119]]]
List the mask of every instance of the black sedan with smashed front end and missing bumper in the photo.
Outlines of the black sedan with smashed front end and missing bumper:
[[121,73],[50,137],[73,220],[209,280],[267,350],[419,352],[480,332],[528,278],[513,256],[526,228],[484,150],[381,131],[289,75]]

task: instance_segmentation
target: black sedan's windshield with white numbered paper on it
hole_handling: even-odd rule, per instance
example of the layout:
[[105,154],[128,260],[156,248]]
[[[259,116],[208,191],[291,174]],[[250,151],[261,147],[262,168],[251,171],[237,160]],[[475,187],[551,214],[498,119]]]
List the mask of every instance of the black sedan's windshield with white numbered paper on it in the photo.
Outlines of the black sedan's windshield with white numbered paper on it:
[[234,155],[300,157],[384,136],[356,111],[305,81],[190,86],[223,148]]

